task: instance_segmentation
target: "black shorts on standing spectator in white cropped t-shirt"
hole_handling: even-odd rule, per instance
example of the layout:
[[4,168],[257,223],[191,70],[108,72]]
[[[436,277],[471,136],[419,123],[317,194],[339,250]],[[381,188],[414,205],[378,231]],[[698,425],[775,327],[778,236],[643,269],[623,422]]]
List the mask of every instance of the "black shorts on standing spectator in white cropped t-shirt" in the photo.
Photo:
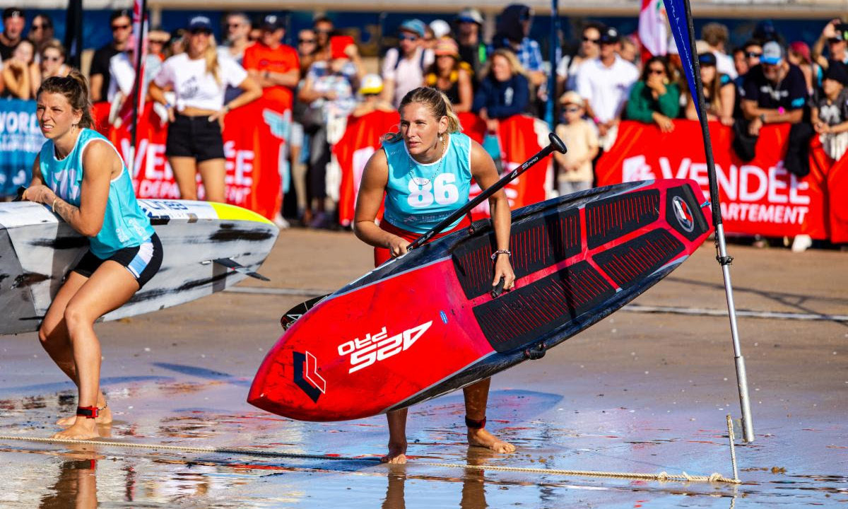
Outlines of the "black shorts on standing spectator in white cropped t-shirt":
[[218,120],[209,121],[206,115],[176,115],[168,126],[165,155],[193,157],[198,163],[209,159],[224,159],[224,138]]

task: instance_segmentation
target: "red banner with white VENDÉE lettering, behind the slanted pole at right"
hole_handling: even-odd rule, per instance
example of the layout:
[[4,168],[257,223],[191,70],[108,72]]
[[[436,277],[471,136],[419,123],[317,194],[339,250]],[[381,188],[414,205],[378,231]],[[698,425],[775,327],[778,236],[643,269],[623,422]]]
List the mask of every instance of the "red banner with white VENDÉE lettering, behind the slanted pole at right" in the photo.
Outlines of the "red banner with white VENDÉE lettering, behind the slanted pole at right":
[[[789,125],[766,126],[756,144],[756,157],[742,162],[731,148],[733,129],[710,122],[725,232],[768,237],[806,233],[829,237],[827,175],[832,161],[820,144],[811,148],[810,175],[799,179],[786,171]],[[706,156],[700,124],[675,120],[674,131],[624,121],[616,144],[595,167],[597,185],[660,178],[690,178],[709,196]]]

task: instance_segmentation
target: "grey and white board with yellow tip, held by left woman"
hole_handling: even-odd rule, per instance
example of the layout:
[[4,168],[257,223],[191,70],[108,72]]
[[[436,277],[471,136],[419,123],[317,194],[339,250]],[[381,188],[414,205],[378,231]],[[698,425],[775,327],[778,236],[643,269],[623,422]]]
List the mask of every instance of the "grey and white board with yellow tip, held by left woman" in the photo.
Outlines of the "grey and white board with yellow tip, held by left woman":
[[[138,204],[162,242],[162,266],[103,320],[160,310],[230,287],[259,269],[279,234],[271,221],[235,205],[170,199],[140,199]],[[88,239],[46,206],[0,204],[0,334],[37,330],[86,249]]]

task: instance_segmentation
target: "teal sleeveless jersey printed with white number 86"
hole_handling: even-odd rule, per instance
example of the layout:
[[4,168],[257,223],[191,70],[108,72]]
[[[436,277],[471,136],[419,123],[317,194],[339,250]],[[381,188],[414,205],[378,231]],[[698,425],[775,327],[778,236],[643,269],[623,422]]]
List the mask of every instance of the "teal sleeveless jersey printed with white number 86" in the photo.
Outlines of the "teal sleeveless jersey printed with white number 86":
[[412,159],[403,140],[382,144],[388,160],[385,221],[407,232],[426,233],[468,203],[471,138],[453,132],[447,140],[442,158],[429,165]]

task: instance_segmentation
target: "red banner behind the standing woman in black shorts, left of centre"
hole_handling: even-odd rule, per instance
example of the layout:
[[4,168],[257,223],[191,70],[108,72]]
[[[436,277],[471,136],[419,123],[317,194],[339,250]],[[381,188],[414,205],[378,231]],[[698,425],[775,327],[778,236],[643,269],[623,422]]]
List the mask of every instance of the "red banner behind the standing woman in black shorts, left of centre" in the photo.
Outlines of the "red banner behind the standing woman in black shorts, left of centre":
[[[282,207],[281,169],[287,168],[285,133],[291,125],[290,111],[277,111],[259,99],[233,109],[224,121],[226,157],[226,201],[273,220]],[[109,131],[109,139],[125,161],[131,160],[130,126]],[[140,155],[131,168],[138,198],[179,199],[180,191],[165,157],[168,126],[148,103],[139,115],[138,147]],[[199,183],[198,196],[203,186]]]

